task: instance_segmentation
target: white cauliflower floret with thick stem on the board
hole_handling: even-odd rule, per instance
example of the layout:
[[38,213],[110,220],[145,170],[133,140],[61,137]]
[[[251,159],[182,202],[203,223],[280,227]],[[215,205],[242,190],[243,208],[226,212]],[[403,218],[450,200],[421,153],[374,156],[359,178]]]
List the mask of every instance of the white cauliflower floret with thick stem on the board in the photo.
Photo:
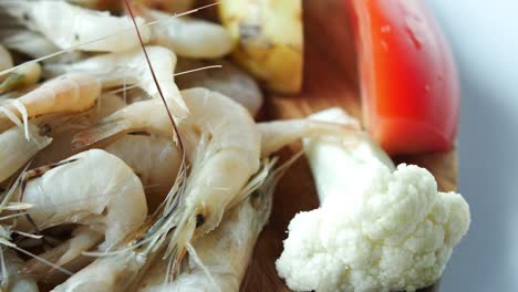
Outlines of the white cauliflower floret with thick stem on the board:
[[294,291],[414,291],[435,283],[468,230],[468,205],[437,191],[424,168],[382,163],[386,156],[365,136],[343,145],[305,143],[313,174],[334,164],[349,177],[315,175],[321,207],[292,219],[279,275]]

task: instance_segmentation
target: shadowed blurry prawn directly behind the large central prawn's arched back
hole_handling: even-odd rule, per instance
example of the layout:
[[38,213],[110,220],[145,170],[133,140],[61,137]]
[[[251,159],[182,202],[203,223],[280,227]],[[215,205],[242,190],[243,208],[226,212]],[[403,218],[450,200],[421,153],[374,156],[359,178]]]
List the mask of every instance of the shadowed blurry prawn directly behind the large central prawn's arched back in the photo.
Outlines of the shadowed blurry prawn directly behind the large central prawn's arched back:
[[245,71],[225,60],[199,61],[179,59],[178,71],[190,71],[207,65],[221,65],[217,70],[204,70],[176,77],[180,90],[205,87],[219,92],[245,106],[256,116],[262,106],[263,96],[257,82]]

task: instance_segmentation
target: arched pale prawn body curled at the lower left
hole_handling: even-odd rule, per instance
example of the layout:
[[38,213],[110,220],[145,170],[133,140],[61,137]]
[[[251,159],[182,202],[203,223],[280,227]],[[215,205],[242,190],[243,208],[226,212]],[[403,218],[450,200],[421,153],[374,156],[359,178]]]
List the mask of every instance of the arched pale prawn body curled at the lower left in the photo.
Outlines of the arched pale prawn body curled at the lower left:
[[[22,201],[40,229],[80,223],[104,233],[107,249],[138,229],[147,216],[141,180],[120,158],[92,149],[30,180]],[[20,227],[31,230],[28,221]]]

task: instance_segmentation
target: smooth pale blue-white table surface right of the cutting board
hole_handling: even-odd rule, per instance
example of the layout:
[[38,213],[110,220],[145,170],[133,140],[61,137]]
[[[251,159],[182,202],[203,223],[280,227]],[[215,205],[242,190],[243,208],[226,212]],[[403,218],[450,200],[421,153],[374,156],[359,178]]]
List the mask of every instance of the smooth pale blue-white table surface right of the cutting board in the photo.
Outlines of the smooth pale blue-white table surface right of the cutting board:
[[518,0],[427,0],[460,71],[459,190],[472,228],[442,291],[518,291]]

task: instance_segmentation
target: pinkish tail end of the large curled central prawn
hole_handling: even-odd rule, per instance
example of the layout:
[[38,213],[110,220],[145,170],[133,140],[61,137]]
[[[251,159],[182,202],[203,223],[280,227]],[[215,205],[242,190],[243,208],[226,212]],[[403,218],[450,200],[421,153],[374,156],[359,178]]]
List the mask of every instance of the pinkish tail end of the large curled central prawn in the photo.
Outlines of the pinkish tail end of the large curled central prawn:
[[108,142],[130,132],[131,126],[124,119],[105,121],[84,129],[72,139],[72,149],[80,150],[100,142]]

